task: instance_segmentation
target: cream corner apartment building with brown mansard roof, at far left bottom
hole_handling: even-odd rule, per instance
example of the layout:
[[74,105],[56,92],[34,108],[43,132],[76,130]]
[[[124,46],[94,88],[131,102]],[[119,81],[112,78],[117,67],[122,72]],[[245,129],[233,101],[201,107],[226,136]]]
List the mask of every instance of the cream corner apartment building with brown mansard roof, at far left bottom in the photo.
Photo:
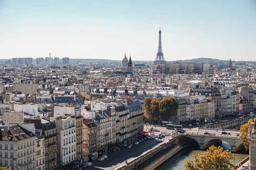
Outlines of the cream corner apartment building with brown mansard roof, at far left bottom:
[[13,170],[35,170],[35,125],[10,123],[1,127],[0,134],[0,166],[11,166]]

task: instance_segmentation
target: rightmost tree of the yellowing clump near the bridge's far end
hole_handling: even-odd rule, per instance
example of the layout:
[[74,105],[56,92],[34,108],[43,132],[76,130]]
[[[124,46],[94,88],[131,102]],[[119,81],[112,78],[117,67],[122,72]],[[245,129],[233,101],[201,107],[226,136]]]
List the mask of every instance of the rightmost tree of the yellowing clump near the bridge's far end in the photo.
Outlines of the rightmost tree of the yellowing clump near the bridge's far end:
[[177,111],[179,104],[173,97],[166,97],[159,102],[160,117],[168,121]]

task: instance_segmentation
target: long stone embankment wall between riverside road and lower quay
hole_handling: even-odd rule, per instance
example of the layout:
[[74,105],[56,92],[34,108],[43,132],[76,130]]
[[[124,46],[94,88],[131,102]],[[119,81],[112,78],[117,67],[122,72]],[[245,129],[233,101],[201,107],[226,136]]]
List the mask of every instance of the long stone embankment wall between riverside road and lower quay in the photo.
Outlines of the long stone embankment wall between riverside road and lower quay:
[[180,138],[181,138],[181,136],[173,137],[168,142],[163,143],[160,146],[158,146],[157,148],[154,148],[154,149],[148,151],[147,153],[141,155],[137,159],[134,159],[130,162],[127,161],[126,164],[119,166],[115,170],[131,170],[131,169],[138,168],[138,166],[140,166],[143,162],[145,162],[152,156],[156,155],[157,153],[164,152],[167,148],[171,147],[172,145],[173,145],[173,147],[175,147],[175,145],[178,145]]

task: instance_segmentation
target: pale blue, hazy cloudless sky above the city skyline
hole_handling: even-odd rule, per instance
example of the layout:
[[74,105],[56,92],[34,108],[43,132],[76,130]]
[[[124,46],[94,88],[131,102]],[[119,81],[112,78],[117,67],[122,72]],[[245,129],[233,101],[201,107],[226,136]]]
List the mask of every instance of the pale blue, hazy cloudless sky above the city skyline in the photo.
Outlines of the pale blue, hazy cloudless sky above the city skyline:
[[256,61],[256,1],[0,0],[0,58]]

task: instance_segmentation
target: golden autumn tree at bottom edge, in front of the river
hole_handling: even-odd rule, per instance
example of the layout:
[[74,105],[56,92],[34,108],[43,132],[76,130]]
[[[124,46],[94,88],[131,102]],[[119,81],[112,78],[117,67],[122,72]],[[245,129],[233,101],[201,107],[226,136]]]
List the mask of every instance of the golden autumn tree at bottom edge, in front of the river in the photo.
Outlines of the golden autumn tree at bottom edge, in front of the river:
[[235,166],[230,160],[233,155],[230,151],[218,148],[214,145],[199,156],[193,155],[195,161],[186,160],[185,170],[235,170]]

